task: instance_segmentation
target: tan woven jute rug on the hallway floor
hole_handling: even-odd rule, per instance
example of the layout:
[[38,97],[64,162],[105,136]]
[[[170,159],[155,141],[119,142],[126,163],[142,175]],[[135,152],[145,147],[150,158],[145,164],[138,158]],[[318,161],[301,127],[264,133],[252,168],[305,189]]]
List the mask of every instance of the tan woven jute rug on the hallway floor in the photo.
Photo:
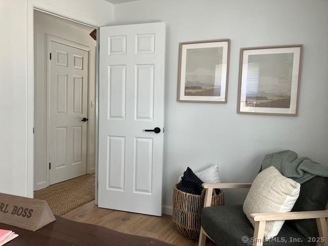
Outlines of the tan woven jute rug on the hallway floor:
[[94,200],[94,173],[35,191],[34,198],[46,200],[55,215],[63,215]]

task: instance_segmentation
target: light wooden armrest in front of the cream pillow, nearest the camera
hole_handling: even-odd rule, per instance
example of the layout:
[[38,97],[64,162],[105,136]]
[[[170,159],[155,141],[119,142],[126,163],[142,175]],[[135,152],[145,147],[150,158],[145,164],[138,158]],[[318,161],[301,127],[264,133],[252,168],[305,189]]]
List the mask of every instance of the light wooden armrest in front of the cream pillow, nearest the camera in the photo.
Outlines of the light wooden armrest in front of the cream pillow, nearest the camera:
[[317,219],[317,218],[327,218],[327,217],[328,217],[328,210],[251,214],[251,218],[254,219],[255,221]]

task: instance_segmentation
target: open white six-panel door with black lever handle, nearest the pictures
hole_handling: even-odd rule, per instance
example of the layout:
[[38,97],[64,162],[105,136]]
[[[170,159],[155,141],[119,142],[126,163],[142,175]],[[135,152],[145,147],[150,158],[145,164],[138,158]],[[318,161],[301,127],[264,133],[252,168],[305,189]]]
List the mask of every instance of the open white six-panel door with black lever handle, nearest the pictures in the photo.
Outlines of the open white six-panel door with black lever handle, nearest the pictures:
[[161,216],[165,39],[165,23],[100,28],[101,208]]

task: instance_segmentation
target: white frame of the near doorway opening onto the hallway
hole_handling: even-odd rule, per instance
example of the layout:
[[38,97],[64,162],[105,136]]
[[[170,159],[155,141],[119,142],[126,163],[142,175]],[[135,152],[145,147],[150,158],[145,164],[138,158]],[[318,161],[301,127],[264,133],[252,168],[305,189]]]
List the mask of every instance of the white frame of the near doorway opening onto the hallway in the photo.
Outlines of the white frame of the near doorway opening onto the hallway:
[[[98,30],[100,26],[105,26],[105,23],[99,23],[94,19],[89,19],[84,16],[79,15],[78,13],[70,12],[65,9],[40,2],[38,0],[27,0],[27,81],[26,81],[26,127],[27,127],[27,151],[26,151],[26,196],[33,198],[34,190],[34,10],[42,11],[47,14],[57,16],[59,18],[64,18],[71,20],[73,22],[85,25],[88,27],[93,27]],[[98,56],[99,56],[99,38],[97,38],[96,45],[96,131],[95,131],[95,197],[97,203],[97,172],[98,172]]]

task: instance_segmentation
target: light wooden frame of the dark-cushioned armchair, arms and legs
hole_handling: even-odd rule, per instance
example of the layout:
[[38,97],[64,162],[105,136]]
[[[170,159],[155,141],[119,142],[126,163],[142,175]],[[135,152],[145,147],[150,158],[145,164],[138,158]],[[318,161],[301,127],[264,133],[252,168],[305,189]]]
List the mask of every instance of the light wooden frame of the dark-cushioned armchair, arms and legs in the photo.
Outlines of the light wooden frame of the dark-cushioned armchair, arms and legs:
[[[252,183],[203,183],[202,187],[206,189],[204,208],[211,206],[213,189],[236,189],[251,188]],[[286,212],[286,213],[262,213],[251,214],[255,221],[253,246],[262,246],[264,238],[265,223],[272,220],[292,220],[292,219],[316,219],[319,236],[324,238],[321,245],[328,246],[328,231],[326,218],[328,210],[322,211],[304,211],[304,212]],[[201,227],[198,246],[205,246],[206,239],[210,238]],[[210,238],[211,239],[211,238]]]

